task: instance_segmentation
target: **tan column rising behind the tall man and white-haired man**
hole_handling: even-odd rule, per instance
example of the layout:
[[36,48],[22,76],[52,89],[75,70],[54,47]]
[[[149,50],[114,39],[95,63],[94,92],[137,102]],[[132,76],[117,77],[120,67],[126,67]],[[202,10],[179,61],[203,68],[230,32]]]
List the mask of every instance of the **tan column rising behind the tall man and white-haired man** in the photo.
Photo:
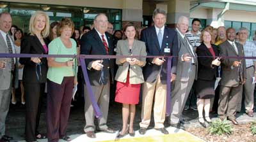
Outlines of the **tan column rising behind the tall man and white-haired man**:
[[189,14],[189,0],[169,0],[167,2],[167,20],[168,27],[175,27],[180,16],[190,17]]

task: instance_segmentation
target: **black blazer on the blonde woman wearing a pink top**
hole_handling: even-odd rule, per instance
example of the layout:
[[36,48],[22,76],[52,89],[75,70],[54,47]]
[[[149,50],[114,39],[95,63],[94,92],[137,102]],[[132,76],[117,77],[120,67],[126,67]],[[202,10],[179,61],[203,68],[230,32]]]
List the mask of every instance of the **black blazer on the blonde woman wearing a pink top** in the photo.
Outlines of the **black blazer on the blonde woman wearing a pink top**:
[[[44,39],[45,45],[48,46],[48,42],[46,39]],[[45,50],[39,41],[39,39],[36,36],[29,35],[24,37],[21,40],[20,45],[20,53],[34,53],[34,54],[47,54],[45,53]],[[31,58],[20,58],[19,60],[20,64],[24,64],[24,70],[23,70],[23,82],[33,82],[33,83],[44,83],[47,80],[47,59],[42,58],[41,62],[41,75],[40,75],[40,67],[37,66],[35,62],[31,61]],[[36,72],[38,75],[38,78],[36,76]]]

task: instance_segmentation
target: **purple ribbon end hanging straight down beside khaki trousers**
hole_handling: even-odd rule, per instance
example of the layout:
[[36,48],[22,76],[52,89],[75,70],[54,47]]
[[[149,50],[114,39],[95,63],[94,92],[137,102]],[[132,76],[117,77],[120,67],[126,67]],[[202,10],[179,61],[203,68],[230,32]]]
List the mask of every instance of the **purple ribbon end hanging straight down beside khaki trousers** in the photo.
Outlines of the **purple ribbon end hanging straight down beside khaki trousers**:
[[172,69],[172,57],[168,57],[167,60],[167,83],[166,83],[166,116],[170,116],[171,106],[171,69]]

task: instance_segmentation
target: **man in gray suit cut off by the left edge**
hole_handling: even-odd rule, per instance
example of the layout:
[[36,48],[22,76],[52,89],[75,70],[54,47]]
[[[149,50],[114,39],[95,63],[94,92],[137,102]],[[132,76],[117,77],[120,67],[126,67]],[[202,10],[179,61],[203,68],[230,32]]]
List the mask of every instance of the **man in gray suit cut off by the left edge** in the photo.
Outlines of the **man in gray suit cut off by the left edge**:
[[[12,26],[10,13],[0,13],[0,53],[15,53],[11,36],[8,35]],[[10,141],[12,137],[5,135],[5,120],[9,110],[13,74],[18,75],[15,58],[0,58],[0,142]],[[18,78],[18,76],[17,76]],[[15,86],[17,81],[15,82]]]

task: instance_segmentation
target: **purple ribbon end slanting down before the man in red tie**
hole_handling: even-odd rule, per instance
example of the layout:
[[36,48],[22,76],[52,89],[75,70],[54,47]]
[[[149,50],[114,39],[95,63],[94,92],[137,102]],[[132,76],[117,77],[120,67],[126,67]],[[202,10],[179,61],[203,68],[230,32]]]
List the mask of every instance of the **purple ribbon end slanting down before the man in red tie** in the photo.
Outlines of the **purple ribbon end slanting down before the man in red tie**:
[[102,117],[102,113],[100,111],[100,108],[99,108],[99,106],[98,106],[98,104],[95,100],[95,97],[93,96],[92,87],[91,87],[91,83],[90,83],[88,73],[87,73],[87,70],[86,70],[86,64],[84,62],[84,58],[79,57],[79,60],[80,60],[80,64],[81,64],[81,67],[82,67],[82,70],[83,70],[84,82],[85,82],[85,85],[86,85],[86,89],[88,91],[88,96],[90,98],[93,110],[95,112],[95,117],[96,118]]

